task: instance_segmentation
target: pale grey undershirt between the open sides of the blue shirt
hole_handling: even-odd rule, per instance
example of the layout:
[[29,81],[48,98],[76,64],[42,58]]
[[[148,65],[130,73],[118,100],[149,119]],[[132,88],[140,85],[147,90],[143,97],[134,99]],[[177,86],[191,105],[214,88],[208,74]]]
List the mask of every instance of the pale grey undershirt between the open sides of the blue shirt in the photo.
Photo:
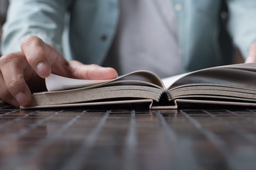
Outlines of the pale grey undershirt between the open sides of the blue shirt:
[[171,0],[120,0],[117,35],[104,66],[119,75],[146,69],[161,78],[183,73]]

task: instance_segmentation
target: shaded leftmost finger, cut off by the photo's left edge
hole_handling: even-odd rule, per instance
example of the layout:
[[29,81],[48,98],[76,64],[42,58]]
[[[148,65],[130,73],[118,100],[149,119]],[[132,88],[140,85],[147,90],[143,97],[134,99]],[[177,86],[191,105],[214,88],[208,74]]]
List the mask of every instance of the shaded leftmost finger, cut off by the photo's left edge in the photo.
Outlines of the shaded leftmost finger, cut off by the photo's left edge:
[[6,84],[5,83],[2,83],[4,82],[4,78],[2,76],[2,74],[0,74],[0,98],[3,100],[3,101],[6,101],[7,103],[15,106],[15,107],[18,107],[19,106],[19,103],[18,101],[16,101],[16,99],[9,93],[8,89],[6,88]]

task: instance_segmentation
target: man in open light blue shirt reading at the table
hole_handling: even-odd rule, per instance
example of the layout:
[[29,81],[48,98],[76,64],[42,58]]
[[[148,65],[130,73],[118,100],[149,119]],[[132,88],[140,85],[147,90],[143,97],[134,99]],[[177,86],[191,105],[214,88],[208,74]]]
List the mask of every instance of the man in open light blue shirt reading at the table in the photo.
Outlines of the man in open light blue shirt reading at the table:
[[[226,5],[234,44],[246,62],[255,61],[256,1],[227,0]],[[228,64],[232,48],[230,39],[221,36],[223,8],[218,0],[11,0],[0,58],[0,97],[27,106],[31,91],[41,90],[33,89],[35,82],[41,84],[38,80],[51,72],[78,79],[117,76],[114,69],[70,62],[60,54],[112,66],[121,74],[156,69],[161,77]]]

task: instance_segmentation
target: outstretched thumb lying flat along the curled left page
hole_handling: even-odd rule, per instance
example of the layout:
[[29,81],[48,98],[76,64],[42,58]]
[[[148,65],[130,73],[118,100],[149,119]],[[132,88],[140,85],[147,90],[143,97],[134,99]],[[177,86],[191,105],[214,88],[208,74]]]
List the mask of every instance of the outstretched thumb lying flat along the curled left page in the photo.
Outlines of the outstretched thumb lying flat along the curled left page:
[[85,65],[78,61],[69,64],[76,79],[115,79],[117,72],[110,67],[100,67],[96,64]]

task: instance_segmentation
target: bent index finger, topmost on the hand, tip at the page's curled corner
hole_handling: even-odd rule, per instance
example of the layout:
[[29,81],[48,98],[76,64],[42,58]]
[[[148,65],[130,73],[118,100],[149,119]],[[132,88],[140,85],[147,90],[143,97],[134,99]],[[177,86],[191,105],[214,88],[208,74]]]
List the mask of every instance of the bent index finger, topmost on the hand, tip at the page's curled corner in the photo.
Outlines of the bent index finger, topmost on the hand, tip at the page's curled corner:
[[21,50],[26,56],[28,64],[42,78],[50,75],[50,63],[46,54],[45,43],[40,38],[28,35],[21,40]]

